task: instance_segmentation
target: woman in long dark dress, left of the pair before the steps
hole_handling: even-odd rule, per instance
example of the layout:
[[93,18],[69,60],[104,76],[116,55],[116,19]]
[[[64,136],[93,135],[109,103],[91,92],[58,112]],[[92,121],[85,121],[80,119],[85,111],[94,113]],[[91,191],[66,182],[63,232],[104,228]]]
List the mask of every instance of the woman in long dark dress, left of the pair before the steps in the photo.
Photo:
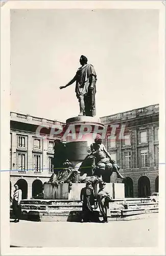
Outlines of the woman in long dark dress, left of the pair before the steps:
[[82,202],[82,219],[81,222],[90,222],[92,220],[92,212],[94,205],[93,189],[90,187],[91,182],[86,182],[86,187],[81,189],[80,200]]

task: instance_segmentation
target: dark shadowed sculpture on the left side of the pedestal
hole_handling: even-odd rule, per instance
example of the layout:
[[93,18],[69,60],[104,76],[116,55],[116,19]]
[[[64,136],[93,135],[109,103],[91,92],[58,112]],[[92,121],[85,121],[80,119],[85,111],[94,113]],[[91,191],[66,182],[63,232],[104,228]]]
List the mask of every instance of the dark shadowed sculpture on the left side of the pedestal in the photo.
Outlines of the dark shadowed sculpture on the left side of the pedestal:
[[51,176],[49,183],[69,183],[78,175],[78,171],[72,168],[72,163],[67,159],[66,147],[61,140],[54,141],[54,157],[52,164],[54,166],[54,174]]

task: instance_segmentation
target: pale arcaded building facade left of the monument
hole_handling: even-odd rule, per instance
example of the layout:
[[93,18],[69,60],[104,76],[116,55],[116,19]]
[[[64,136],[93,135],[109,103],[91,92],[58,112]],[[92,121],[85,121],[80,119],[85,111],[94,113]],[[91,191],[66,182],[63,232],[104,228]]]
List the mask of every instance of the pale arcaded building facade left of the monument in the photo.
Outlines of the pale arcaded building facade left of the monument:
[[[54,140],[62,139],[50,135],[48,127],[64,123],[10,113],[10,190],[13,194],[17,182],[22,190],[22,199],[30,199],[42,193],[43,183],[53,173],[52,157]],[[42,127],[40,134],[37,128]],[[45,127],[45,130],[44,130]],[[43,134],[41,133],[43,131]],[[48,137],[43,135],[48,134]]]

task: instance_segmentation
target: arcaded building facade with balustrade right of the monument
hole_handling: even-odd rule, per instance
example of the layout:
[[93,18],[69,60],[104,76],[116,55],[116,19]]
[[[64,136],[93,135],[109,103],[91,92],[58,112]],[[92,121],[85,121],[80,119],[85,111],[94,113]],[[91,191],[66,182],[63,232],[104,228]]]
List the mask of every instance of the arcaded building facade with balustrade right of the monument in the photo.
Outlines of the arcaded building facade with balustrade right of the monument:
[[107,127],[103,143],[125,177],[125,196],[158,192],[159,104],[100,119]]

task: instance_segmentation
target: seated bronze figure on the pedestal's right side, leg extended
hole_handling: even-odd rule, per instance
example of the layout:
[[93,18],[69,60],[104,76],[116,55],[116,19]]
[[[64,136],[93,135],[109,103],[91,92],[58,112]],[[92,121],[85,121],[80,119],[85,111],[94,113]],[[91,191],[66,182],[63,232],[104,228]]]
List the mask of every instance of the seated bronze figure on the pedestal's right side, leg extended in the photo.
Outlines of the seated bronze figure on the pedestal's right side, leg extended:
[[102,177],[104,182],[109,183],[113,172],[117,174],[117,178],[124,179],[119,172],[120,167],[111,159],[111,155],[106,150],[104,144],[102,144],[102,139],[96,138],[94,142],[90,146],[91,154],[85,158],[79,168],[80,180],[85,180],[82,177],[84,177],[84,174],[87,174],[88,176]]

